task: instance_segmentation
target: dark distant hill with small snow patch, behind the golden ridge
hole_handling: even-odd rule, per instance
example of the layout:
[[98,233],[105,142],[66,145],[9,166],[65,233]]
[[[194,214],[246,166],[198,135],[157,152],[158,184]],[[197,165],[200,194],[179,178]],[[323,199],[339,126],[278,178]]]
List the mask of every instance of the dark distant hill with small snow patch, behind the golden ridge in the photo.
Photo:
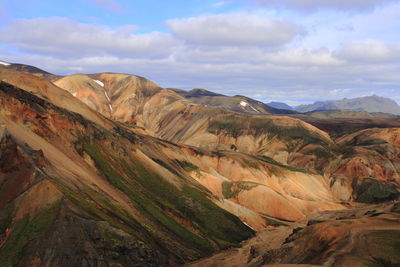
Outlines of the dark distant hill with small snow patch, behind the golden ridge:
[[291,110],[279,109],[266,105],[246,96],[226,96],[211,91],[196,88],[189,91],[172,88],[174,92],[185,97],[188,101],[210,107],[247,114],[293,114]]

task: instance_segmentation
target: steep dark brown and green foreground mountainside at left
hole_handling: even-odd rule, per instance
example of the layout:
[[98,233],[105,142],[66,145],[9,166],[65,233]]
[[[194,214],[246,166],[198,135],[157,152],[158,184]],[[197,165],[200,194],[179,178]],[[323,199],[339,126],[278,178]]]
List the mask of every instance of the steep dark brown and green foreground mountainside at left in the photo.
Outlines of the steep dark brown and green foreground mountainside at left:
[[190,178],[193,165],[162,152],[185,148],[96,124],[101,115],[41,92],[2,82],[0,94],[1,266],[176,265],[253,234]]

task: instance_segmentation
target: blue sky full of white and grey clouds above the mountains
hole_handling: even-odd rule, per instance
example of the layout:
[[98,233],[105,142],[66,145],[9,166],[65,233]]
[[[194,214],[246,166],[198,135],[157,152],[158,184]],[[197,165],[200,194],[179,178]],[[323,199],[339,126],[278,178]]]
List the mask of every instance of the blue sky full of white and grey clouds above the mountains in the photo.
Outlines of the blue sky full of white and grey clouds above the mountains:
[[290,105],[400,103],[400,0],[0,0],[0,60]]

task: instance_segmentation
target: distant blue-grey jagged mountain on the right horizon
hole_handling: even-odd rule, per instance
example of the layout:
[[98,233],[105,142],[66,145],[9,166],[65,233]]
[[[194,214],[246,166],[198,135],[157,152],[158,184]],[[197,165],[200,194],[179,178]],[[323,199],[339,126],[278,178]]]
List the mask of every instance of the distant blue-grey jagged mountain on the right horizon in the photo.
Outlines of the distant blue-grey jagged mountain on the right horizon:
[[355,110],[368,112],[383,112],[400,115],[400,106],[393,100],[380,96],[365,96],[337,101],[318,101],[310,105],[300,105],[295,108],[299,112],[320,110]]

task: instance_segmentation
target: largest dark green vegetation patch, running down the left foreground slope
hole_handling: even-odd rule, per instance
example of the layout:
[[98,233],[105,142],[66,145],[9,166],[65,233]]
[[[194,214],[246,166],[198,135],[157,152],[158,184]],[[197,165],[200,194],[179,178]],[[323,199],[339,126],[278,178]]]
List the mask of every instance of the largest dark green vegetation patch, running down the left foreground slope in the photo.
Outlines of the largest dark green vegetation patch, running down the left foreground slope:
[[[209,254],[214,249],[207,238],[225,248],[253,234],[238,218],[219,208],[197,189],[187,186],[179,189],[133,158],[111,158],[96,144],[85,143],[84,147],[109,182],[123,191],[146,217],[174,235],[174,239],[178,237]],[[196,169],[194,165],[180,163],[183,168]],[[166,211],[191,223],[200,234],[189,231]]]

